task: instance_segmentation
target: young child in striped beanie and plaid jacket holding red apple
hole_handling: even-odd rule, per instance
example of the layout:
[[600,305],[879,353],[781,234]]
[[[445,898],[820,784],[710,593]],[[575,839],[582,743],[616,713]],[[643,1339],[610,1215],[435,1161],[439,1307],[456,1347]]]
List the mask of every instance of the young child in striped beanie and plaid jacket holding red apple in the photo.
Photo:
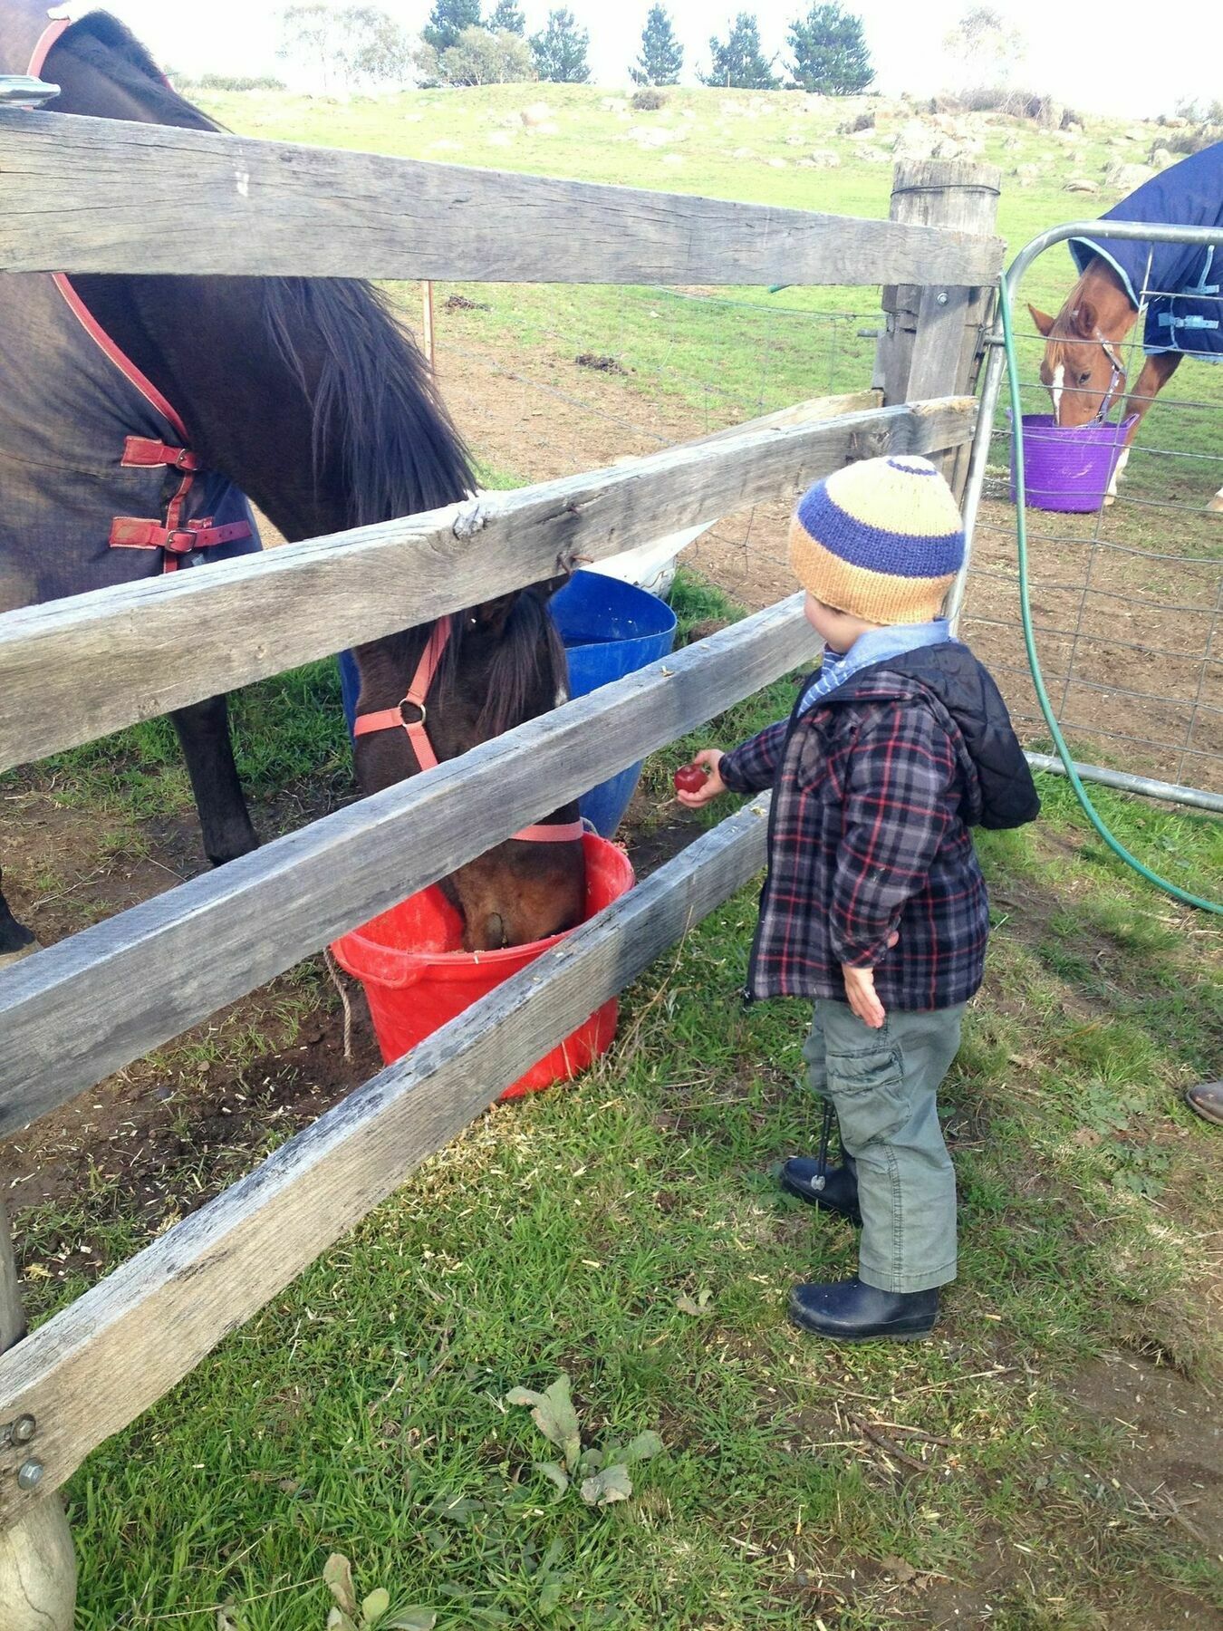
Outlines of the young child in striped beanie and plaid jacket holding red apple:
[[[863,1225],[858,1274],[796,1285],[791,1319],[843,1341],[920,1337],[956,1277],[956,1178],[936,1094],[982,983],[990,928],[969,829],[1039,809],[998,688],[938,613],[964,561],[956,499],[925,458],[819,481],[789,561],[823,664],[789,719],[706,749],[693,809],[773,788],[747,998],[810,997],[802,1050],[825,1101],[817,1160],[783,1186]],[[845,1165],[825,1171],[837,1112]]]

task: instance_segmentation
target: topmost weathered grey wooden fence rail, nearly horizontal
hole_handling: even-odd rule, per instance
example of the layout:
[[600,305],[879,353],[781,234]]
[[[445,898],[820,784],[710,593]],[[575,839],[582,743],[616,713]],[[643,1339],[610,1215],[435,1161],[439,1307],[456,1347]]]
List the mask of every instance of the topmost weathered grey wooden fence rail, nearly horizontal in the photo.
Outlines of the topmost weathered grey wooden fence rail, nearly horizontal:
[[978,285],[1001,256],[938,227],[0,113],[0,271]]

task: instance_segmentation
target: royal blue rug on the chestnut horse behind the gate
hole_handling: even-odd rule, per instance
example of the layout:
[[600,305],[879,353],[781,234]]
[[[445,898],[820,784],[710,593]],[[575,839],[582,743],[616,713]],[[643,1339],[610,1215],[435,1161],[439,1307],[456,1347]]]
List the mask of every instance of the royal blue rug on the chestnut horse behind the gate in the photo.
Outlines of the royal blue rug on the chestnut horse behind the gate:
[[1106,220],[1159,222],[1168,227],[1218,227],[1220,243],[1141,243],[1109,238],[1071,238],[1080,272],[1094,254],[1120,277],[1135,312],[1146,302],[1143,351],[1181,351],[1223,362],[1223,142],[1182,158],[1151,176]]

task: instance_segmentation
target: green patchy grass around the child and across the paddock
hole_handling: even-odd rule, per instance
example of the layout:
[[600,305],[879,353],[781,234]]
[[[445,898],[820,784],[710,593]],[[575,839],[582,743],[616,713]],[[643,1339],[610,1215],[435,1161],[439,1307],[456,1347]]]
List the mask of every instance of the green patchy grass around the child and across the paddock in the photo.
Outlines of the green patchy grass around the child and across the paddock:
[[[673,98],[672,122],[696,114],[675,144],[683,165],[618,145],[625,124],[594,91],[548,88],[553,137],[497,122],[528,99],[209,106],[259,135],[887,209],[889,165],[850,157],[837,109],[802,117],[812,147],[846,155],[815,171],[768,163],[794,152],[789,114],[724,117],[717,93]],[[1049,139],[1018,134],[1008,165],[1037,161]],[[1109,135],[1089,132],[1075,166],[1094,173]],[[755,157],[729,157],[744,145]],[[1058,186],[1004,191],[1013,245],[1065,214]],[[1042,302],[1058,287],[1050,271]],[[869,313],[864,290],[788,290],[801,315],[784,320],[735,290],[734,325],[726,307],[657,292],[465,294],[491,310],[447,315],[460,341],[525,359],[581,339],[636,370],[621,383],[642,408],[662,393],[690,424],[869,378],[872,343],[827,316]],[[1199,419],[1216,434],[1216,411]],[[499,460],[501,481],[536,473],[525,455]],[[682,630],[737,615],[691,574],[675,603]],[[779,683],[647,763],[641,853],[685,820],[670,767],[791,695]],[[245,692],[236,737],[264,833],[351,796],[329,664]],[[142,882],[142,868],[199,866],[163,724],[8,776],[0,796],[31,824],[18,882],[54,900],[47,938],[114,910],[116,881],[171,881]],[[1181,1104],[1223,1055],[1220,935],[1125,873],[1057,778],[1042,796],[1039,825],[980,840],[995,935],[946,1093],[962,1266],[934,1341],[832,1349],[784,1323],[794,1279],[850,1271],[853,1233],[773,1179],[817,1116],[801,1006],[737,1001],[747,891],[626,993],[605,1062],[471,1127],[86,1461],[68,1487],[78,1631],[323,1631],[336,1551],[359,1593],[386,1590],[385,1628],[1223,1626],[1220,1145]],[[1220,824],[1101,804],[1177,881],[1223,876]],[[248,1169],[369,1057],[365,1042],[339,1059],[336,998],[311,959],[90,1094],[82,1116],[113,1129],[104,1142],[72,1120],[20,1140],[7,1165],[31,1315]],[[39,1199],[51,1169],[60,1181]],[[507,1395],[563,1373],[585,1448],[659,1434],[626,1501],[587,1505],[538,1471],[556,1452]]]

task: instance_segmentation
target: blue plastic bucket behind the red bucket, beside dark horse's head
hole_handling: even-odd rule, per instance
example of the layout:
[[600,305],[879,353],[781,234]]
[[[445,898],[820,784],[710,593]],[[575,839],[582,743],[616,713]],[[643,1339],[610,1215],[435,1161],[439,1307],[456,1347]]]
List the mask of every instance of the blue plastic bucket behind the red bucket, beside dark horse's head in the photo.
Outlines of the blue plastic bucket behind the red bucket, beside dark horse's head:
[[[548,610],[569,659],[571,696],[623,680],[675,644],[675,613],[665,600],[602,572],[574,572]],[[639,778],[641,762],[582,794],[582,816],[600,837],[613,837]]]

